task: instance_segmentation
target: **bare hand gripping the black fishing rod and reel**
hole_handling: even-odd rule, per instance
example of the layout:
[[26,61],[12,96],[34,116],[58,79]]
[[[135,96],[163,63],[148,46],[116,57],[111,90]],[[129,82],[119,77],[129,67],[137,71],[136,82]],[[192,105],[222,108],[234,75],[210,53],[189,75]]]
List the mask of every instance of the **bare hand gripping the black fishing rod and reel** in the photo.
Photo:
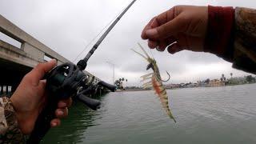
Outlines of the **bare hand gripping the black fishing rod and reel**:
[[[34,129],[34,122],[38,118],[38,112],[46,105],[48,94],[45,90],[46,81],[42,78],[56,64],[55,60],[38,64],[30,73],[26,74],[10,98],[22,134],[31,133]],[[58,107],[54,110],[56,118],[50,122],[51,126],[59,126],[60,118],[66,117],[67,107],[71,103],[71,98],[58,102]]]

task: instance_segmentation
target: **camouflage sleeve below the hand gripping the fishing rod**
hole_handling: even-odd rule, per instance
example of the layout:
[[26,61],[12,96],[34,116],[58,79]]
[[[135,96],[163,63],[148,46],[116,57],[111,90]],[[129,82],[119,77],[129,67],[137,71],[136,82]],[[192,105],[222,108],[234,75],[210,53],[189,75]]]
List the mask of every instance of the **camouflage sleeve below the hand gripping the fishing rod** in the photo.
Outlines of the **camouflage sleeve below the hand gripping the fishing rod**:
[[0,143],[26,143],[18,128],[14,107],[7,97],[0,98]]

